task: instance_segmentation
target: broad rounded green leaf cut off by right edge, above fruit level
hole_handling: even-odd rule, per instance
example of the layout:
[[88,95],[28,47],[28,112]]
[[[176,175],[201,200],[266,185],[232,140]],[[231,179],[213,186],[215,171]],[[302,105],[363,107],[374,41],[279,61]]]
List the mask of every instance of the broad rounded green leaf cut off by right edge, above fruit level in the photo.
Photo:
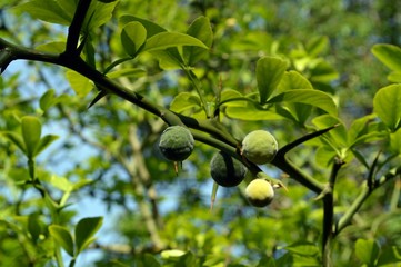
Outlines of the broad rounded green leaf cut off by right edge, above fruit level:
[[373,98],[373,111],[391,131],[400,127],[401,85],[381,88]]

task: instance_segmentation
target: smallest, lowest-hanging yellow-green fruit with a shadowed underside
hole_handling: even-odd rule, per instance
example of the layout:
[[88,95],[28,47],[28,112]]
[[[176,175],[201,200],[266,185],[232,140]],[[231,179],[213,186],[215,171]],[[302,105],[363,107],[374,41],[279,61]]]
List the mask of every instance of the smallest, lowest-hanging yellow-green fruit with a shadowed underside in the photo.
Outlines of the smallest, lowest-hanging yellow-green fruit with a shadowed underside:
[[265,179],[254,179],[245,188],[248,201],[254,207],[268,206],[274,197],[273,187]]

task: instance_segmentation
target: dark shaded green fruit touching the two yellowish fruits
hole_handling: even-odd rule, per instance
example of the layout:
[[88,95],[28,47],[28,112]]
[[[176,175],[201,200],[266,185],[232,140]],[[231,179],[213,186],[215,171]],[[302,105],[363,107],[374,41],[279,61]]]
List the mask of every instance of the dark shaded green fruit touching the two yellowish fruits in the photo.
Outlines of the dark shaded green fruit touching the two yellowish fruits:
[[247,168],[225,152],[214,154],[210,161],[210,175],[222,187],[238,186],[245,177]]

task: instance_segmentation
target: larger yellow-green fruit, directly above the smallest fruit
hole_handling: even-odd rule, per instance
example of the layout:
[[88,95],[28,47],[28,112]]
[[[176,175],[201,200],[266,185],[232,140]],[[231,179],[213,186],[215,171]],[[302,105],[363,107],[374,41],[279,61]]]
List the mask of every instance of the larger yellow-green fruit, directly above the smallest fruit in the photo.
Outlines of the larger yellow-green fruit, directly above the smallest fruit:
[[273,160],[278,145],[269,131],[255,130],[249,132],[242,140],[241,151],[249,161],[263,165]]

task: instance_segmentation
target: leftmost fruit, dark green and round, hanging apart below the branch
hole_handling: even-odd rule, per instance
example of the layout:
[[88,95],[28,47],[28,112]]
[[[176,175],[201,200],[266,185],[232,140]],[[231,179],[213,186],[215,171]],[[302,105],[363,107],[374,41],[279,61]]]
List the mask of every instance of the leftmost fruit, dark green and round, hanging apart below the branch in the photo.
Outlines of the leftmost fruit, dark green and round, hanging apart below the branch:
[[160,136],[159,149],[167,159],[182,161],[191,155],[193,144],[193,136],[189,129],[170,126]]

